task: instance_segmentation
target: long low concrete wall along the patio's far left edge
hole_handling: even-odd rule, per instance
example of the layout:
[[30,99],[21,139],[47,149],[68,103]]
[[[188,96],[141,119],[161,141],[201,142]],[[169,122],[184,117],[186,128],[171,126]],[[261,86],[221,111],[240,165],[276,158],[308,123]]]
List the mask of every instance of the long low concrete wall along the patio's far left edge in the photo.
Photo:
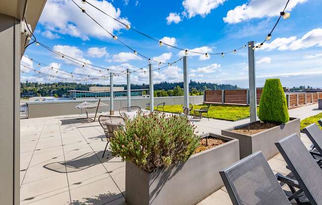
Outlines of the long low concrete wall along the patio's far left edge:
[[[86,100],[86,102],[97,102],[98,100]],[[161,102],[165,102],[166,105],[183,104],[183,96],[176,97],[159,97],[155,98],[155,105]],[[68,100],[68,101],[41,101],[41,102],[27,102],[28,104],[28,118],[37,117],[50,117],[58,115],[70,115],[85,113],[85,109],[78,109],[75,106],[79,105],[84,100]],[[111,103],[109,99],[101,99],[101,102],[108,104],[107,106],[100,106],[99,112],[110,111]],[[145,108],[146,104],[150,102],[149,98],[133,98],[131,99],[131,105]],[[190,96],[190,103],[201,104],[203,102],[203,96]],[[114,99],[114,110],[117,112],[121,107],[127,106],[126,99]],[[95,112],[95,109],[89,110],[90,113]]]

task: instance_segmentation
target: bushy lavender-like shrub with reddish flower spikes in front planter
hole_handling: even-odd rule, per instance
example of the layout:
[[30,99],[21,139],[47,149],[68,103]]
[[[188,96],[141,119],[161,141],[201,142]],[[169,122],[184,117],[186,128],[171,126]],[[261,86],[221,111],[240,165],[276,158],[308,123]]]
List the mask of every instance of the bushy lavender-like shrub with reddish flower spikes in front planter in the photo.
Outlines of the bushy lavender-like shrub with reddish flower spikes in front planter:
[[195,126],[179,115],[139,115],[127,120],[125,127],[126,131],[117,131],[111,138],[112,154],[147,172],[184,163],[199,146]]

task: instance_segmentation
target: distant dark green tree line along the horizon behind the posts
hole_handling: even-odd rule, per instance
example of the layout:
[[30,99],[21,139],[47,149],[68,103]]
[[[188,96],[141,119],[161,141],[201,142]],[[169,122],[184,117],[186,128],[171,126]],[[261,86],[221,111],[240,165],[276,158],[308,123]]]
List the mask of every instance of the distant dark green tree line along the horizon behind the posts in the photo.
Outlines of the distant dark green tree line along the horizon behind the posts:
[[[89,87],[109,86],[102,84],[82,84],[72,82],[57,82],[57,83],[38,83],[38,82],[21,82],[20,83],[20,96],[22,98],[29,97],[63,97],[69,95],[69,90],[82,90],[88,91]],[[114,85],[115,87],[124,87],[127,89],[126,84]],[[149,89],[149,84],[131,84],[131,89]],[[183,96],[183,82],[161,82],[154,84],[155,97],[166,96]],[[237,85],[230,84],[217,84],[209,82],[189,82],[190,95],[203,95],[204,90],[237,90]]]

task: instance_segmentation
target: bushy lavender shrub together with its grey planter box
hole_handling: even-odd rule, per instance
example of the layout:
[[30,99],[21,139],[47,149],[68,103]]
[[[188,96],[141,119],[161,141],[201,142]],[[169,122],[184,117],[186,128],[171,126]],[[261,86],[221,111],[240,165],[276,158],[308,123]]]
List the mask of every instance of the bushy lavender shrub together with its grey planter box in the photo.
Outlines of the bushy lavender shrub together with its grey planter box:
[[128,205],[195,205],[223,186],[219,171],[239,160],[237,139],[206,134],[179,115],[125,122],[111,138],[125,163]]

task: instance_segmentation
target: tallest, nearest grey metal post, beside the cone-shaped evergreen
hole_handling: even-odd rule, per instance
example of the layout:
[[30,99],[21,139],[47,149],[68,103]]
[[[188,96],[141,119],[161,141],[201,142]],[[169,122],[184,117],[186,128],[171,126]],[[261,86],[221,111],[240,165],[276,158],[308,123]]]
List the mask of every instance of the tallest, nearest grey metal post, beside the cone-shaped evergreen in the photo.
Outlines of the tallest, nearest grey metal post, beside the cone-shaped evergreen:
[[257,102],[254,41],[250,41],[248,44],[250,44],[250,47],[248,47],[249,112],[250,122],[255,122],[257,120]]

